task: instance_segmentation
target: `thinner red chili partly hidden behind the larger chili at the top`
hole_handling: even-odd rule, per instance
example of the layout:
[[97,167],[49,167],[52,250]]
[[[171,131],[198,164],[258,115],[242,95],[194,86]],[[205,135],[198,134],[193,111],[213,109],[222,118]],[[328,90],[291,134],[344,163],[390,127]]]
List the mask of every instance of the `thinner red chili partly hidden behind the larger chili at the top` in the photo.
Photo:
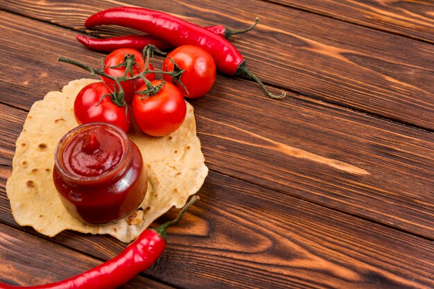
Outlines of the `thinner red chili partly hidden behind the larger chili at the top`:
[[[206,27],[207,30],[220,35],[221,37],[231,37],[232,35],[246,33],[258,24],[259,18],[256,18],[254,24],[243,30],[232,30],[227,26],[216,25]],[[121,37],[92,38],[85,35],[76,35],[78,42],[88,49],[96,51],[114,51],[121,48],[130,48],[141,51],[148,44],[153,44],[160,50],[171,49],[173,46],[159,38],[150,35],[125,35]]]

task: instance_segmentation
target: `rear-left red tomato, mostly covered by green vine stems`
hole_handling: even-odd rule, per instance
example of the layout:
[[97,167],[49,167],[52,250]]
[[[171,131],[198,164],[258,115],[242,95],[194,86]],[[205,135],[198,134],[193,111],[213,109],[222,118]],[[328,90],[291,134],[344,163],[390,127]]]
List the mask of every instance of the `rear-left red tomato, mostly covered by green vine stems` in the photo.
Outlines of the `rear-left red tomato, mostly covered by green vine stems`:
[[[132,67],[132,73],[133,76],[137,76],[137,74],[141,73],[145,69],[145,62],[144,59],[141,57],[141,53],[135,49],[116,49],[109,55],[107,55],[104,59],[104,72],[107,73],[109,76],[116,76],[121,77],[125,73],[125,67],[119,67],[116,69],[109,68],[109,67],[115,67],[116,65],[121,64],[124,61],[124,56],[132,54],[134,55],[134,59],[137,62],[137,65],[134,65]],[[149,64],[149,68],[154,70],[154,67],[152,64]],[[128,77],[131,77],[131,73],[127,74]],[[150,73],[146,75],[146,78],[148,80],[153,81],[155,80],[155,73]],[[111,84],[116,85],[116,82],[111,80],[110,78],[103,77],[103,81]],[[134,93],[136,92],[136,88],[141,87],[144,85],[144,80],[141,78],[137,78],[137,80],[128,80],[121,82],[121,87],[123,91],[125,92],[125,102],[131,103],[132,96],[134,96]],[[117,87],[117,86],[116,86]]]

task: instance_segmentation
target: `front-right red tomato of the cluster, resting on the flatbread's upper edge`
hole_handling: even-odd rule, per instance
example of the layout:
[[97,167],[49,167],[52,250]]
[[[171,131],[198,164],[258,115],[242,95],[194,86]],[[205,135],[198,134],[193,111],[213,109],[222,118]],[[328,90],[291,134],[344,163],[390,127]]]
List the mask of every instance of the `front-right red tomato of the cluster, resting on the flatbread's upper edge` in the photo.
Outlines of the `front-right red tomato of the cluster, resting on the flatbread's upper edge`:
[[[162,80],[154,80],[153,86]],[[140,90],[146,89],[146,85]],[[163,137],[175,132],[184,122],[186,104],[180,89],[170,82],[164,82],[157,94],[148,96],[135,94],[132,98],[132,116],[140,130],[153,137]]]

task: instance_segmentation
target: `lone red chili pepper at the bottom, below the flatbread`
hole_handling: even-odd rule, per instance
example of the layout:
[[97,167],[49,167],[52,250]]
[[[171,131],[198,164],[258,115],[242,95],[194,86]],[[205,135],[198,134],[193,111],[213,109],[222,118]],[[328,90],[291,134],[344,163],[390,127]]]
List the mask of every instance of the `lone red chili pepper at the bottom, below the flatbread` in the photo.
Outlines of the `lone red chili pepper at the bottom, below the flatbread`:
[[114,289],[148,269],[166,247],[166,229],[182,219],[185,211],[198,200],[193,196],[175,220],[156,229],[146,229],[121,254],[75,277],[40,286],[12,286],[0,282],[0,289]]

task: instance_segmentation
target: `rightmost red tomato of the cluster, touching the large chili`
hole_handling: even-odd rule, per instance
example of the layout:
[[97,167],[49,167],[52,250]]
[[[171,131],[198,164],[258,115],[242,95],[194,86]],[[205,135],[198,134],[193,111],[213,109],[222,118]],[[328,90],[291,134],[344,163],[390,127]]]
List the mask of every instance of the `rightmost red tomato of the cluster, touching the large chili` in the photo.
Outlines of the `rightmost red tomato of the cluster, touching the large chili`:
[[[176,83],[183,96],[198,98],[206,94],[214,85],[216,63],[207,51],[192,45],[179,46],[171,53],[168,53],[163,62],[163,71],[173,71],[174,64],[171,59],[175,60],[180,69],[184,69],[180,80],[185,85],[188,93],[182,85]],[[164,74],[163,78],[173,83],[171,76]]]

